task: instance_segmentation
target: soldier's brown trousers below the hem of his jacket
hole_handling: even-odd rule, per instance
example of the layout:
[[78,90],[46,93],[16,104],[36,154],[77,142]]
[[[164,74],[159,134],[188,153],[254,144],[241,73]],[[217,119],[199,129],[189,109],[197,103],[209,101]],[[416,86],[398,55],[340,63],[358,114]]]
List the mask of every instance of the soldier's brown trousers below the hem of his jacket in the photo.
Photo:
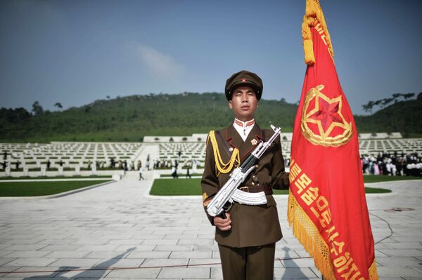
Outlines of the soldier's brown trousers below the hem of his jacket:
[[224,280],[273,280],[276,244],[233,248],[218,245]]

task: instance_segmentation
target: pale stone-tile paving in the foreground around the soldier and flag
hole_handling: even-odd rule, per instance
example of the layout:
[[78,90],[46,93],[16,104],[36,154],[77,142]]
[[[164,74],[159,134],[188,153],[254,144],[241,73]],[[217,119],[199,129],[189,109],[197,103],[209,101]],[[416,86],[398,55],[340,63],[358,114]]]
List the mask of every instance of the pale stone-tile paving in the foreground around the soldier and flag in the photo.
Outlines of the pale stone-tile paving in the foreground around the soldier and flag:
[[[148,196],[153,173],[137,176],[56,199],[1,200],[0,280],[221,279],[201,198]],[[367,196],[375,241],[384,239],[380,279],[422,279],[422,181],[375,185],[394,191]],[[287,196],[276,201],[284,235],[276,258],[298,259],[276,261],[275,279],[321,279],[287,227]],[[415,210],[385,211],[397,207]],[[72,271],[54,272],[63,269]]]

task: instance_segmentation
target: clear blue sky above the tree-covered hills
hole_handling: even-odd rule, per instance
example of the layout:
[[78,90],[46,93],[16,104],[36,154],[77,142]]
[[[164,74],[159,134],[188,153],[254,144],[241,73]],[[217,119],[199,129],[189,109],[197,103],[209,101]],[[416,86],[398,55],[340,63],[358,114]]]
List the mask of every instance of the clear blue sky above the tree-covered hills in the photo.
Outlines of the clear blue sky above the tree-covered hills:
[[[321,0],[354,114],[422,91],[420,0]],[[56,110],[148,93],[224,92],[248,69],[298,102],[305,0],[1,0],[0,107]]]

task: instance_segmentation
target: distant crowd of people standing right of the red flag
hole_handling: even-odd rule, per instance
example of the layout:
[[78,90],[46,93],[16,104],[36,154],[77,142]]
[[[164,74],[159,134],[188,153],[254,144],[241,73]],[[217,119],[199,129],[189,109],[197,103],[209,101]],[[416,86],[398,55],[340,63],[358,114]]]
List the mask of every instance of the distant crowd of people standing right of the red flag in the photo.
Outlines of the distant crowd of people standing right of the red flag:
[[397,152],[361,156],[364,175],[422,176],[422,156]]

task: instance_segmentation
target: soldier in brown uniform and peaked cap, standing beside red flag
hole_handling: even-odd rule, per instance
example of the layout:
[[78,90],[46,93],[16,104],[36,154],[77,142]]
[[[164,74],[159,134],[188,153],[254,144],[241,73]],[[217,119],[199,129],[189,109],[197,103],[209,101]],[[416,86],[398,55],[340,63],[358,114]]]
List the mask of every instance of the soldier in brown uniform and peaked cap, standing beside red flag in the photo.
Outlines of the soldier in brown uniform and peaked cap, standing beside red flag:
[[[255,73],[241,71],[226,81],[225,93],[234,112],[234,122],[207,138],[201,187],[203,206],[229,179],[231,171],[252,152],[260,140],[274,131],[263,130],[254,119],[262,95],[262,80]],[[288,189],[280,138],[267,149],[239,187],[244,192],[265,192],[267,205],[249,206],[234,202],[226,218],[212,217],[219,246],[224,279],[273,279],[275,243],[282,237],[272,189]],[[206,212],[205,212],[206,213]]]

